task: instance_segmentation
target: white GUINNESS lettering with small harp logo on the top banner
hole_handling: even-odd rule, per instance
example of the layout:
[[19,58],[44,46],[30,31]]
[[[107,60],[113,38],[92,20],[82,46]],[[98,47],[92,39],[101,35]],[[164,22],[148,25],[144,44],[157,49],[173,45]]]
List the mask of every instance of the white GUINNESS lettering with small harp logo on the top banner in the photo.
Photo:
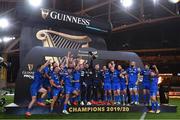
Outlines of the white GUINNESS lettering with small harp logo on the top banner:
[[50,18],[53,20],[70,22],[70,23],[75,23],[75,24],[85,25],[85,26],[89,26],[90,21],[91,21],[86,18],[72,16],[72,15],[68,15],[68,14],[64,14],[64,13],[59,13],[57,11],[53,11],[53,10],[51,11],[49,9],[44,9],[44,8],[41,8],[41,16],[44,20],[46,20],[47,18]]

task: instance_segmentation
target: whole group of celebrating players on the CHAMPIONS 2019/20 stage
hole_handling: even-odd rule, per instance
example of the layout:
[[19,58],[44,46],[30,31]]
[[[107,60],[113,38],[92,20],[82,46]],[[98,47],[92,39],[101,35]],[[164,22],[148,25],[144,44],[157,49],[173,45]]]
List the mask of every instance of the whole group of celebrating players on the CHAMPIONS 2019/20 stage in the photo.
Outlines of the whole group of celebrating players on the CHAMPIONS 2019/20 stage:
[[[30,86],[32,100],[28,105],[26,116],[31,116],[31,108],[36,102],[46,106],[45,99],[51,100],[50,112],[56,102],[63,105],[64,114],[69,114],[69,105],[138,105],[139,83],[143,86],[143,101],[151,104],[149,112],[159,113],[157,101],[158,69],[155,65],[145,65],[144,70],[130,62],[127,69],[116,65],[114,61],[100,69],[99,64],[82,62],[74,59],[70,52],[65,62],[50,63],[46,61],[38,65],[34,72],[34,80]],[[142,81],[140,76],[143,76]],[[130,97],[127,95],[129,90]],[[40,95],[40,96],[39,96]]]

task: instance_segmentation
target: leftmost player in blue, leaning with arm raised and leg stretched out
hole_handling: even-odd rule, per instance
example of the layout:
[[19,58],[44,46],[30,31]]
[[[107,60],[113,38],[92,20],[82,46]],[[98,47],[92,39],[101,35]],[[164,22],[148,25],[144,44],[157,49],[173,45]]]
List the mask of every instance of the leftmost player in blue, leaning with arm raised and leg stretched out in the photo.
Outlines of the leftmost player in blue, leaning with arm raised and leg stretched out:
[[30,111],[31,111],[32,106],[34,105],[34,103],[37,100],[38,93],[41,93],[42,95],[41,95],[41,98],[39,98],[37,100],[37,104],[40,105],[40,106],[45,106],[45,104],[43,103],[43,98],[46,96],[47,90],[42,87],[42,85],[43,85],[42,71],[49,64],[50,64],[50,62],[47,61],[44,65],[38,65],[37,70],[34,73],[34,80],[32,81],[31,87],[30,87],[32,100],[28,105],[27,112],[25,113],[27,117],[31,116]]

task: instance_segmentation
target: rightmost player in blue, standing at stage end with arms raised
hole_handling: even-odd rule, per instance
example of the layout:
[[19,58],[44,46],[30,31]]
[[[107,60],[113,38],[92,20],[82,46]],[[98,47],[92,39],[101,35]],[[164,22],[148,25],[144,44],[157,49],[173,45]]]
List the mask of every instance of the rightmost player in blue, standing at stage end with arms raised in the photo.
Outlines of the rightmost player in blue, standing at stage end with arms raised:
[[158,69],[155,65],[151,69],[151,81],[150,81],[150,96],[151,96],[151,108],[149,112],[151,113],[160,113],[158,100],[156,99],[158,92]]

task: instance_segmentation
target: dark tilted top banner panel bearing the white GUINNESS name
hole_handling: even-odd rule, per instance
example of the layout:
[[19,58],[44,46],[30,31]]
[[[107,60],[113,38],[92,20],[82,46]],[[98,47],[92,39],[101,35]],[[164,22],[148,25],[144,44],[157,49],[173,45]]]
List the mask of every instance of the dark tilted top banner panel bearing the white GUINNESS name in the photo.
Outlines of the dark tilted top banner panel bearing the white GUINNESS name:
[[68,28],[83,32],[108,33],[111,24],[107,21],[99,21],[87,16],[80,16],[50,8],[40,8],[33,11],[25,7],[16,8],[17,18],[22,22],[41,26]]

